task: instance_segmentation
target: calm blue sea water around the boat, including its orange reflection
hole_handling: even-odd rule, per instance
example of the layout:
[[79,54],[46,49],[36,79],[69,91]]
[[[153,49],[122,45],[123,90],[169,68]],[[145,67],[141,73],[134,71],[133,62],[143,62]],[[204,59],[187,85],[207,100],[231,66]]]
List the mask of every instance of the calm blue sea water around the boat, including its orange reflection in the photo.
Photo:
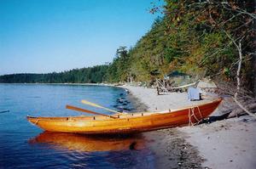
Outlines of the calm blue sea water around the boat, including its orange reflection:
[[[0,168],[154,168],[154,153],[143,135],[126,138],[86,137],[44,132],[26,115],[82,115],[66,110],[81,99],[115,109],[125,91],[116,87],[0,84]],[[126,98],[125,98],[126,99]],[[132,108],[129,100],[125,105]]]

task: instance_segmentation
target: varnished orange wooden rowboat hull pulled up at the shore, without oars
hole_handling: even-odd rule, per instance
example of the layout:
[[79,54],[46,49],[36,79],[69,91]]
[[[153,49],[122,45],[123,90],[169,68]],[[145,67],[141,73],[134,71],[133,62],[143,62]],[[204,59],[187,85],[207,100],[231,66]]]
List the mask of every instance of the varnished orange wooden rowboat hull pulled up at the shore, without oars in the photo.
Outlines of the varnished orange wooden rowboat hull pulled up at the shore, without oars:
[[111,134],[148,132],[169,127],[193,125],[211,115],[222,99],[179,110],[115,114],[108,116],[32,117],[27,120],[49,132]]

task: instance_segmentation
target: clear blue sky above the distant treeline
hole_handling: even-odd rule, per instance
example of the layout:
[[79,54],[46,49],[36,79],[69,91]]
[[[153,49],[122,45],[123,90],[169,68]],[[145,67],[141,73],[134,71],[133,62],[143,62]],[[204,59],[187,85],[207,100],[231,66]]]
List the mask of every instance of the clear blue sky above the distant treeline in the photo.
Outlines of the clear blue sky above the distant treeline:
[[157,0],[0,0],[0,75],[101,65],[149,29]]

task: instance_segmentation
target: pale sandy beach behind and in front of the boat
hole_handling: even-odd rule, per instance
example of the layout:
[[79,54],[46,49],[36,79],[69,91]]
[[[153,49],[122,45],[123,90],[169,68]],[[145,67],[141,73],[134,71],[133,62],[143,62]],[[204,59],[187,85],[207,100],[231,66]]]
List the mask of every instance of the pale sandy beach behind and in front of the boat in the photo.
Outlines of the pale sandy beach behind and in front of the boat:
[[[216,98],[212,95],[201,101],[190,102],[187,93],[157,95],[156,90],[151,88],[123,87],[137,98],[141,110],[148,111],[177,109]],[[220,105],[212,115],[221,114],[223,107]],[[157,168],[256,167],[256,120],[248,115],[195,127],[146,132],[145,136],[154,138],[151,147],[158,157]]]

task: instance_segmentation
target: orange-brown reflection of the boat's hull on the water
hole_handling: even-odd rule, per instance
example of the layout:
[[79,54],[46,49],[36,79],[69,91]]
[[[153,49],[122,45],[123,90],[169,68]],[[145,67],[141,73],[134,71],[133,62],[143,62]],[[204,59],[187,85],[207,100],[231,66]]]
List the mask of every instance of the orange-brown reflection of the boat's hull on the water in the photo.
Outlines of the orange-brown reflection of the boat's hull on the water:
[[84,136],[76,133],[42,132],[29,140],[29,144],[54,145],[54,149],[83,152],[119,151],[145,148],[142,134],[130,136]]

